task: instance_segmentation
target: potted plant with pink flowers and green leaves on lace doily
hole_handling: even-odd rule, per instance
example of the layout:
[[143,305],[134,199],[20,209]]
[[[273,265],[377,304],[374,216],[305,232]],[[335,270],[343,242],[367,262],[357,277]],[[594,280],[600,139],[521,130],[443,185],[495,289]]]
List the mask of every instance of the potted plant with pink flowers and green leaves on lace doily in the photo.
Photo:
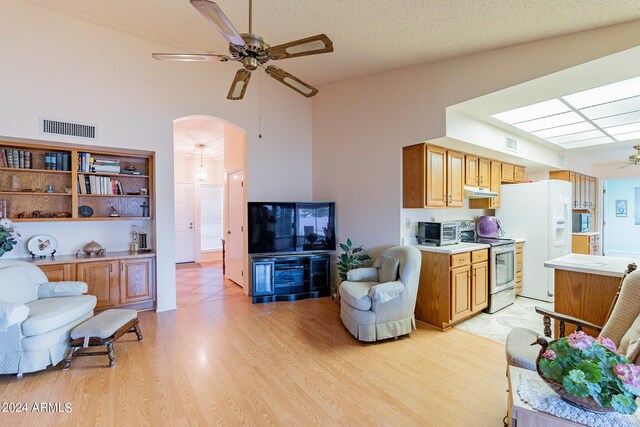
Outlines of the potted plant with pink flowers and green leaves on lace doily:
[[564,400],[594,412],[635,413],[640,366],[618,354],[613,341],[579,331],[538,343],[538,374]]

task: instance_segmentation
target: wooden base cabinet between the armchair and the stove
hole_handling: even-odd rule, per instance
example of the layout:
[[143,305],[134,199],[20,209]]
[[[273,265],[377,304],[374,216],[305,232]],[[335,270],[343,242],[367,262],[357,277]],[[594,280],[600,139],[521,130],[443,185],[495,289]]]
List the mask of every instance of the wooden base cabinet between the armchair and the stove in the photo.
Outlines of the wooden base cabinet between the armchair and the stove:
[[445,330],[488,305],[489,250],[422,251],[416,319]]

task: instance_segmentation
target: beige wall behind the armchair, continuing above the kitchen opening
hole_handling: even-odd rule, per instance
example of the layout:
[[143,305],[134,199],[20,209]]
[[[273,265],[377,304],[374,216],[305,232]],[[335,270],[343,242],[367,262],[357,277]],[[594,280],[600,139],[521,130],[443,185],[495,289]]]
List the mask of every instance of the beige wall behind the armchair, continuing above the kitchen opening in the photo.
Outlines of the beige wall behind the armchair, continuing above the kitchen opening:
[[447,136],[448,106],[637,44],[633,22],[323,85],[313,101],[314,199],[336,201],[340,241],[374,255],[398,244],[401,147]]

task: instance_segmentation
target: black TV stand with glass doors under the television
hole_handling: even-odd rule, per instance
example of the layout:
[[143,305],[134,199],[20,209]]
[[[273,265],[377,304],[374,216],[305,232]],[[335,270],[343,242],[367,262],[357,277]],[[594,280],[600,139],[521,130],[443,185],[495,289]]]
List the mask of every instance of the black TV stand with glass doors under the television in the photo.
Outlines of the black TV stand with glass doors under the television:
[[251,255],[252,302],[297,301],[331,294],[326,252]]

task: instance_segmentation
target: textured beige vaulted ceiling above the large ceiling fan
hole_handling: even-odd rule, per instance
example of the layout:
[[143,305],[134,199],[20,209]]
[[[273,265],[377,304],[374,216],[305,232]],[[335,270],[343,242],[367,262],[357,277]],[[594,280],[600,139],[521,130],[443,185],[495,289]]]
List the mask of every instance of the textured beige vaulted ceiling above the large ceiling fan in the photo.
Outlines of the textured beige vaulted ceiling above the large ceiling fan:
[[[178,52],[227,53],[224,39],[188,0],[25,1]],[[248,31],[248,0],[217,3],[239,32]],[[319,85],[640,19],[640,1],[255,0],[253,11],[253,32],[272,45],[319,33],[333,40],[333,53],[278,64]]]

